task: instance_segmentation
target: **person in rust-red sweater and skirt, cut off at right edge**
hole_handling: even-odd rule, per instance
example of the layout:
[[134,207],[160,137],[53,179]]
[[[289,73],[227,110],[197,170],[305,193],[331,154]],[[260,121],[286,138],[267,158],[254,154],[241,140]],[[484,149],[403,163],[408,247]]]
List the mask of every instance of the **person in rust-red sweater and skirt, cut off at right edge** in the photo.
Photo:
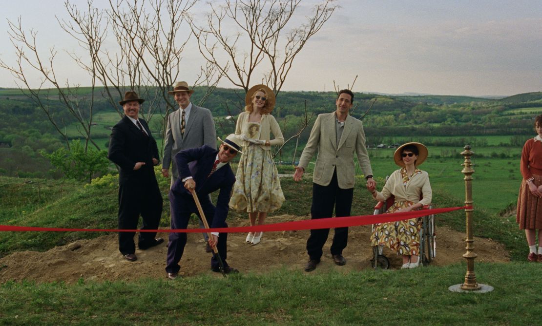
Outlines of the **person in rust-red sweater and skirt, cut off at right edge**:
[[[521,151],[520,170],[523,180],[519,188],[516,222],[525,230],[529,255],[527,260],[542,262],[542,115],[534,119],[537,136],[528,139]],[[536,250],[538,230],[538,254]]]

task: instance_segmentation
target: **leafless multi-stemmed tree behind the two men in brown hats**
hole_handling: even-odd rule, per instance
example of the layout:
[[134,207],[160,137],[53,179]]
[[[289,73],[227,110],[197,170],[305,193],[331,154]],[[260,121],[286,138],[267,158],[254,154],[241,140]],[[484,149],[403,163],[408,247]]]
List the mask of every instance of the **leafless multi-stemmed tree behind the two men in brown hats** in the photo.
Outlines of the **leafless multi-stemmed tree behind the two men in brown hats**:
[[[78,95],[78,85],[70,87],[68,82],[61,85],[55,75],[54,57],[56,51],[50,50],[50,57],[44,64],[44,59],[36,48],[36,32],[30,31],[30,36],[23,31],[21,20],[18,24],[10,22],[11,42],[16,49],[18,62],[10,66],[0,61],[0,67],[9,69],[23,83],[24,92],[33,98],[34,102],[46,112],[49,121],[62,135],[68,147],[68,136],[63,122],[54,118],[46,101],[49,97],[43,90],[46,82],[53,84],[59,94],[61,103],[68,108],[81,125],[80,134],[92,141],[91,126],[92,112],[96,96],[101,90],[101,96],[122,116],[118,105],[126,90],[136,90],[147,99],[146,112],[141,111],[147,121],[159,112],[165,121],[167,114],[175,110],[176,103],[167,91],[175,82],[180,71],[182,51],[190,37],[190,32],[182,39],[179,35],[184,17],[196,0],[109,0],[109,8],[99,10],[93,6],[92,0],[87,0],[83,9],[67,0],[64,6],[69,19],[59,19],[61,28],[72,36],[85,50],[85,55],[70,53],[73,60],[88,73],[91,80],[91,91],[88,96]],[[112,31],[116,46],[105,48],[107,31]],[[182,41],[179,41],[182,39]],[[27,56],[30,52],[31,57]],[[27,71],[23,65],[41,72],[43,81],[40,87],[32,89],[27,81]],[[209,96],[220,79],[216,67],[207,63],[201,68],[193,85],[207,85],[207,93],[201,101]],[[98,89],[96,85],[103,87]],[[21,88],[23,90],[23,88]],[[86,105],[83,107],[82,105]]]

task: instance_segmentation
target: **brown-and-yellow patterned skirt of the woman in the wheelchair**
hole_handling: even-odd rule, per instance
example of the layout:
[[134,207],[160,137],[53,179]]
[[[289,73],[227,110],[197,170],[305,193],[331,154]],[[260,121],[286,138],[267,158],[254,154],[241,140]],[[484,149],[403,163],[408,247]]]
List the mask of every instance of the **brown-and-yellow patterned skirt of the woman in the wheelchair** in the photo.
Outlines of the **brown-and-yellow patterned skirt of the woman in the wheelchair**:
[[[396,201],[386,213],[396,212],[399,208],[413,205],[409,201]],[[422,219],[411,218],[397,222],[375,224],[375,230],[371,234],[371,245],[385,245],[401,255],[420,255],[420,229]]]

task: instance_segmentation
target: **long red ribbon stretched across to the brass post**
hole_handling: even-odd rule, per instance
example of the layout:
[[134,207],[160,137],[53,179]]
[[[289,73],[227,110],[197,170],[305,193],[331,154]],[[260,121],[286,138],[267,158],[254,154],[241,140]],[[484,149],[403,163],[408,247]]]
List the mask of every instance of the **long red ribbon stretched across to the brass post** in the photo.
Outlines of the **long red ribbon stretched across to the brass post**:
[[434,208],[397,212],[393,214],[360,215],[348,217],[329,217],[319,219],[304,219],[302,221],[282,222],[274,224],[255,225],[254,227],[210,228],[210,229],[161,229],[161,230],[119,230],[119,229],[66,229],[66,228],[37,228],[18,227],[16,225],[0,225],[0,231],[53,231],[53,232],[169,232],[169,233],[203,233],[203,232],[274,232],[293,230],[312,230],[357,227],[360,225],[401,221],[426,215],[436,215],[460,209],[472,209],[472,206]]

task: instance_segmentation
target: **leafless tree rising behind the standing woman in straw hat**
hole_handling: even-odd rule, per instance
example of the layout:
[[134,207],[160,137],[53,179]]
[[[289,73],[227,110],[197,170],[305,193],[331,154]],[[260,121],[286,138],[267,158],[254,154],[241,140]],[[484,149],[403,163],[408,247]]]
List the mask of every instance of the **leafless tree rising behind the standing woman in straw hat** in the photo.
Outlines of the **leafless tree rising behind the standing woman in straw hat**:
[[[203,57],[233,85],[246,94],[251,84],[266,83],[277,97],[295,57],[338,8],[334,0],[324,0],[314,6],[304,23],[292,28],[300,3],[301,0],[227,0],[210,4],[205,26],[198,25],[193,17],[189,23]],[[232,33],[231,26],[237,31]],[[261,71],[260,66],[265,71],[261,79],[255,75]],[[238,96],[244,102],[244,96]],[[228,112],[234,115],[229,108]],[[285,144],[294,138],[299,141],[312,117],[305,112],[305,121]]]

